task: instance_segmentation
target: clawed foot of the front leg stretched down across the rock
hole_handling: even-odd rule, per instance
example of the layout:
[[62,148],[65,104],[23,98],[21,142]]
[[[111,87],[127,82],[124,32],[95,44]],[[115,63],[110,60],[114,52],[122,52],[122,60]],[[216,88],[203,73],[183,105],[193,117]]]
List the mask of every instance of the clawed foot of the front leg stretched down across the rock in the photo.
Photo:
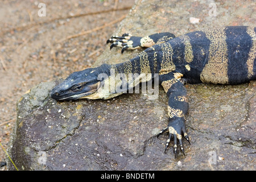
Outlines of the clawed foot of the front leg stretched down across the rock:
[[[177,133],[177,131],[174,129],[174,127],[167,126],[163,130],[159,131],[159,133],[156,134],[156,137],[159,137],[161,134],[165,133],[166,131],[169,131],[169,137],[168,137],[168,139],[166,141],[166,147],[164,148],[164,153],[166,154],[167,147],[169,146],[169,143],[170,143],[171,139],[174,138],[174,154],[175,154],[175,158],[176,158],[176,154],[177,154],[177,139],[179,140],[179,143],[180,143],[180,150],[185,155],[184,148],[183,148],[183,142],[182,142],[182,139],[181,139],[182,138],[181,137],[181,131],[179,133]],[[185,133],[184,130],[183,130],[183,135],[184,135],[184,138],[190,144],[188,135],[187,135],[187,133]]]

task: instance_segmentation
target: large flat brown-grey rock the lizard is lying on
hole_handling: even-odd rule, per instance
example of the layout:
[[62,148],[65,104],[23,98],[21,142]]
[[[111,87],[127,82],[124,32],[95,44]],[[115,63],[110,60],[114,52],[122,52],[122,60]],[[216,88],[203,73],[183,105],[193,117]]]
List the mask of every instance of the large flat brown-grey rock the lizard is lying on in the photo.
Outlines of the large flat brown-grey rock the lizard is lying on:
[[[212,1],[137,1],[117,32],[150,35],[170,31],[176,36],[204,27],[254,25],[253,1],[241,5]],[[199,22],[196,19],[200,19]],[[195,23],[198,22],[198,23]],[[138,51],[113,48],[94,66],[118,63]],[[123,94],[111,100],[56,102],[49,90],[61,80],[42,82],[17,102],[18,117],[9,153],[23,170],[255,170],[256,82],[242,85],[186,85],[187,129],[191,146],[174,158],[167,135],[167,97]],[[10,170],[15,169],[8,162]]]

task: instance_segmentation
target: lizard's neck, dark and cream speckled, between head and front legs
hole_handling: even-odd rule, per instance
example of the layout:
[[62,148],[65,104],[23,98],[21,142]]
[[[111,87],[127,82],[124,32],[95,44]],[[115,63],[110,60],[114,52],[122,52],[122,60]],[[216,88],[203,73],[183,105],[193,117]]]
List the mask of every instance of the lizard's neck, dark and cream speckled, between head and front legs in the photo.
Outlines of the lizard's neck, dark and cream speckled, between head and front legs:
[[[154,77],[154,65],[147,52],[141,52],[137,57],[123,63],[100,66],[105,75],[104,85],[108,86],[111,94],[127,93],[128,90],[139,86],[141,82],[150,81]],[[101,80],[102,78],[100,78]]]

